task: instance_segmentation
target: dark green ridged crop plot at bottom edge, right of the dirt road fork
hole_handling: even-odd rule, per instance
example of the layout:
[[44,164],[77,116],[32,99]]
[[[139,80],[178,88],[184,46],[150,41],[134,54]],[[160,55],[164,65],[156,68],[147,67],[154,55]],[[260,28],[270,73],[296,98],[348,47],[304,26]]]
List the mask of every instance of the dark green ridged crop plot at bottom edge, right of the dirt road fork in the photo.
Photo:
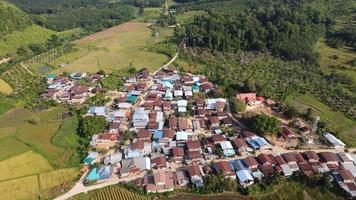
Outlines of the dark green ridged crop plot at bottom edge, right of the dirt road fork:
[[147,198],[132,193],[121,186],[109,186],[102,189],[79,194],[71,198],[72,200],[145,200]]

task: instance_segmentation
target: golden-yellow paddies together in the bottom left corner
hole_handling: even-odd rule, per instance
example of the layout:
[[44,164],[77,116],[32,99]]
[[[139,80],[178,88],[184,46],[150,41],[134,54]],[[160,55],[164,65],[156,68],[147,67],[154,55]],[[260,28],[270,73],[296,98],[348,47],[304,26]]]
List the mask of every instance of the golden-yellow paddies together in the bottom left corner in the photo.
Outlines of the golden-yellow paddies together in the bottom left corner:
[[1,161],[0,167],[3,170],[0,176],[0,199],[51,198],[56,194],[50,189],[66,186],[79,174],[76,168],[54,170],[33,151]]

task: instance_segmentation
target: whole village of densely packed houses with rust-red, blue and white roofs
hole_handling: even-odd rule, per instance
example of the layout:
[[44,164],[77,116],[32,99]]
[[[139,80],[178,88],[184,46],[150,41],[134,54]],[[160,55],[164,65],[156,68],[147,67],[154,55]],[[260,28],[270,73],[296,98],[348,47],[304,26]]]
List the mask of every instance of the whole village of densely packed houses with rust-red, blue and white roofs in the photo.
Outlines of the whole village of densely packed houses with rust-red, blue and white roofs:
[[[83,160],[85,184],[130,180],[147,193],[203,187],[204,177],[223,173],[242,187],[273,174],[328,173],[350,196],[356,196],[356,154],[331,133],[315,134],[315,124],[280,117],[280,137],[263,137],[236,119],[229,100],[211,95],[205,76],[163,68],[141,70],[124,79],[121,91],[78,85],[105,75],[73,73],[48,76],[43,99],[80,105],[96,93],[111,97],[85,116],[102,116],[110,125],[90,140]],[[242,93],[247,110],[279,117],[271,99]],[[284,122],[284,123],[283,123]],[[129,132],[132,137],[123,137]],[[296,147],[302,148],[296,148]],[[133,177],[130,179],[130,177]]]

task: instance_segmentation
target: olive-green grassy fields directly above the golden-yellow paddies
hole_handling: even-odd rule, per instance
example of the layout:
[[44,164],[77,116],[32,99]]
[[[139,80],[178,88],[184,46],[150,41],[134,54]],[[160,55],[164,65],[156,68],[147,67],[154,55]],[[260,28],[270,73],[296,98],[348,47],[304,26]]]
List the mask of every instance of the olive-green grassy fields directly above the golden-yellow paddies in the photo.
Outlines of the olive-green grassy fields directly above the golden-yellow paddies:
[[[18,146],[13,148],[18,147],[20,149],[23,145],[26,145],[47,159],[55,168],[70,167],[75,165],[72,158],[76,149],[74,147],[63,148],[52,143],[52,138],[56,135],[62,123],[60,116],[66,111],[63,107],[36,112],[14,109],[0,117],[0,129],[16,130],[12,137],[19,142],[16,142]],[[1,142],[4,142],[4,144]],[[6,146],[6,142],[15,143],[13,140],[0,140],[0,146]],[[2,158],[5,159],[6,157],[3,156]]]

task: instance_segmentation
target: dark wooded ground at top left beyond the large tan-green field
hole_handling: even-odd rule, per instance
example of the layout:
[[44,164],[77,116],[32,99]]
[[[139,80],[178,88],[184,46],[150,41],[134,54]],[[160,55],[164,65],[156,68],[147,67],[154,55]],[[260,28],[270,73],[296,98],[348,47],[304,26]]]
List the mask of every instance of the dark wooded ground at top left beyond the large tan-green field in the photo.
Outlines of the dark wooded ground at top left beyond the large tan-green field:
[[133,19],[137,9],[131,5],[105,0],[10,0],[36,24],[63,31],[82,27],[97,32]]

